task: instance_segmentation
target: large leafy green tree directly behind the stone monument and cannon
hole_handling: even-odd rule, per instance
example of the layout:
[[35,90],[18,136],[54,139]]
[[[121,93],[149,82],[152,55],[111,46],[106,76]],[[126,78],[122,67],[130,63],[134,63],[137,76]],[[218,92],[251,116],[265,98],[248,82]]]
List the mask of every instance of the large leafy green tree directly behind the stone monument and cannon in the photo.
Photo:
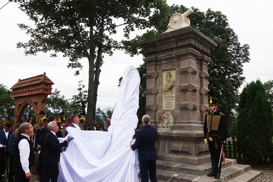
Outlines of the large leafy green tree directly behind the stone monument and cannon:
[[[163,24],[158,30],[151,30],[138,36],[131,42],[126,42],[128,53],[131,55],[142,53],[137,46],[149,37],[164,33],[167,30],[167,24],[171,15],[176,12],[186,12],[185,6],[173,5],[170,8],[170,14],[163,19]],[[250,47],[247,44],[241,45],[238,36],[230,28],[227,17],[219,11],[200,12],[198,8],[192,7],[194,12],[189,15],[191,26],[200,30],[218,44],[211,51],[211,62],[209,62],[209,94],[218,98],[220,109],[229,120],[234,120],[233,109],[236,109],[238,103],[238,89],[245,81],[243,77],[243,64],[250,61]],[[143,107],[143,106],[142,106]]]

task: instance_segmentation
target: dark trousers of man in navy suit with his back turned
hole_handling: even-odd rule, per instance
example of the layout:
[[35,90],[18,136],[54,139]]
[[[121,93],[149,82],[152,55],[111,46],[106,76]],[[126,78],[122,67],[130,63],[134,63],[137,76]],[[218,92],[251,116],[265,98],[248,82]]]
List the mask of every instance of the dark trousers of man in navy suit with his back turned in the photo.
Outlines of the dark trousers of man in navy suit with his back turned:
[[156,179],[156,160],[140,161],[140,177],[142,182],[148,182],[149,176],[151,182],[157,182]]

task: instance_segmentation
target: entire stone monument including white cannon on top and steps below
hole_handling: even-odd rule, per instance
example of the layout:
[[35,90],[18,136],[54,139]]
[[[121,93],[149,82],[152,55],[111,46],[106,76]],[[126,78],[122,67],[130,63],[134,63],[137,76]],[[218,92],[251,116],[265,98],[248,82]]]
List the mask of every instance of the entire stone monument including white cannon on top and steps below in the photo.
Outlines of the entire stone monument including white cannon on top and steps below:
[[158,129],[158,179],[251,181],[261,172],[238,165],[235,159],[226,160],[220,179],[207,176],[211,163],[203,122],[208,109],[208,63],[217,44],[190,27],[191,12],[174,14],[165,33],[140,44],[147,64],[146,113]]

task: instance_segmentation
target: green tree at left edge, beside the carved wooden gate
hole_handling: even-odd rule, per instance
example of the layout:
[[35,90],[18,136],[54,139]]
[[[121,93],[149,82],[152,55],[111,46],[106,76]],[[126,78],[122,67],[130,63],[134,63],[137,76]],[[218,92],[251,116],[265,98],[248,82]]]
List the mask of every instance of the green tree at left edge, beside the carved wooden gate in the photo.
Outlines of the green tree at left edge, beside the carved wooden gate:
[[0,117],[13,122],[15,115],[15,103],[11,98],[11,91],[0,84]]

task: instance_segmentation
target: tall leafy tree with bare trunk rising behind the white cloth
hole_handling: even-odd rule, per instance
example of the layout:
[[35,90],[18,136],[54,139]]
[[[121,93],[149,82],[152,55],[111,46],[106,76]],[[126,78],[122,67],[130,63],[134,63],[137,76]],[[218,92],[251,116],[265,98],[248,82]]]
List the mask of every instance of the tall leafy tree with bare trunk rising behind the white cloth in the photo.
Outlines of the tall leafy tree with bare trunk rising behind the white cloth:
[[137,29],[161,26],[168,12],[165,0],[53,0],[20,1],[21,10],[35,23],[34,27],[20,24],[30,35],[26,43],[17,44],[26,55],[49,52],[53,57],[62,53],[69,58],[68,67],[82,69],[82,60],[88,61],[88,98],[86,121],[93,128],[100,84],[100,67],[104,54],[112,55],[123,48],[113,36],[122,26],[124,37]]

